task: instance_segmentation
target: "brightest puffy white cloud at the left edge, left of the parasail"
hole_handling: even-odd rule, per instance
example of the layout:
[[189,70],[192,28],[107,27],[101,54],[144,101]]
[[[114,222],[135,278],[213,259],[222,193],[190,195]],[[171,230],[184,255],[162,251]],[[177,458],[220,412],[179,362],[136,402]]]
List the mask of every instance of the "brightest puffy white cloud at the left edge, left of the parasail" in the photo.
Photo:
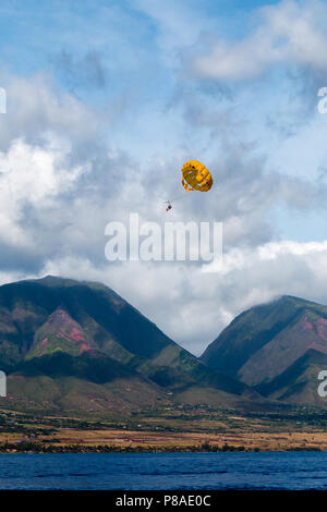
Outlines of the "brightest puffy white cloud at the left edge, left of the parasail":
[[[68,192],[83,168],[66,168],[70,147],[64,141],[48,135],[45,145],[32,146],[13,141],[7,153],[0,153],[0,237],[21,246],[28,244],[21,223],[26,207],[50,206],[56,196]],[[84,169],[85,171],[85,169]],[[29,241],[32,244],[33,241]]]

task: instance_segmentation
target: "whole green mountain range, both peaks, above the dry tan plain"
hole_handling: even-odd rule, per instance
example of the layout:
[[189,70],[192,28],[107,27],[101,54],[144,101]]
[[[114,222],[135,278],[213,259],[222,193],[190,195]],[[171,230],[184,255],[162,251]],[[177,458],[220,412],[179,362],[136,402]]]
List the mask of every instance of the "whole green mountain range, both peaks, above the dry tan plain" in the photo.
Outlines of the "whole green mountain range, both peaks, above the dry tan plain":
[[104,284],[19,281],[0,287],[0,369],[1,404],[24,411],[325,406],[327,307],[292,296],[252,307],[197,358]]

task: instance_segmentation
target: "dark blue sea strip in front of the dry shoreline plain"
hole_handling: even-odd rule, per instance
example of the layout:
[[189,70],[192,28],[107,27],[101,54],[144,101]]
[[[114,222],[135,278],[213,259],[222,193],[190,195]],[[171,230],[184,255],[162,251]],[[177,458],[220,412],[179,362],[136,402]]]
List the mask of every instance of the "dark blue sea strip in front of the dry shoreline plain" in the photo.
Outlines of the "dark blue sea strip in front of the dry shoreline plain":
[[327,489],[327,453],[5,453],[0,489]]

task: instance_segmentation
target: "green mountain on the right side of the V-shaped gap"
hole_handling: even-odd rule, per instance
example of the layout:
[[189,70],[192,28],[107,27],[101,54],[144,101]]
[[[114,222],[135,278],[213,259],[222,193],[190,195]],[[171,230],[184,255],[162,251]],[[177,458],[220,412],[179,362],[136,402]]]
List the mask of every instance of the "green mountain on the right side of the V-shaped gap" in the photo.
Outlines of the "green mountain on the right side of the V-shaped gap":
[[[211,368],[223,368],[228,375],[255,387],[270,399],[295,401],[296,393],[287,392],[286,388],[293,386],[291,376],[294,368],[298,373],[302,368],[305,375],[301,381],[305,381],[308,369],[302,363],[315,349],[315,361],[320,359],[320,369],[324,369],[327,306],[283,296],[238,316],[207,348],[201,359]],[[307,364],[312,367],[311,363]],[[310,375],[311,387],[316,389],[316,376]],[[287,382],[287,377],[290,382]],[[283,392],[272,392],[280,378]],[[308,400],[310,393],[302,393],[302,401],[304,397]]]

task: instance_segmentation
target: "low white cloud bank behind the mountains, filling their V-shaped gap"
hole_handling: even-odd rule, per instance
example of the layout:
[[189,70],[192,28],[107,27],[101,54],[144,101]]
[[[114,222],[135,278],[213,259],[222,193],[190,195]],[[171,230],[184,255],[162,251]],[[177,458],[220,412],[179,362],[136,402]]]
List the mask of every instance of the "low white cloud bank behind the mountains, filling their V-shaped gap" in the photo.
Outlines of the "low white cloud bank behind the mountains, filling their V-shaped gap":
[[125,261],[95,266],[83,257],[51,259],[52,273],[105,282],[185,349],[199,355],[244,309],[282,294],[327,304],[327,241],[280,241],[231,249],[221,272],[187,263]]

